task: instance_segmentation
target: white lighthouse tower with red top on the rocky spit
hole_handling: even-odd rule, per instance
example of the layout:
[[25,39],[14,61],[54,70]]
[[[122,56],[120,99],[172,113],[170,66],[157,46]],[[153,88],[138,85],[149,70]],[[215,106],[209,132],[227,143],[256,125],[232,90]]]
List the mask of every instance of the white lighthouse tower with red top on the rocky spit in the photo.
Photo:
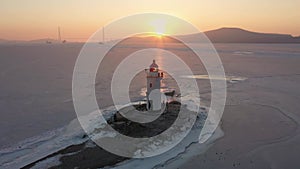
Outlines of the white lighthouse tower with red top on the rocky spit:
[[158,65],[153,60],[149,69],[145,69],[147,73],[147,109],[148,110],[161,110],[161,93],[160,93],[160,81],[164,74],[158,69]]

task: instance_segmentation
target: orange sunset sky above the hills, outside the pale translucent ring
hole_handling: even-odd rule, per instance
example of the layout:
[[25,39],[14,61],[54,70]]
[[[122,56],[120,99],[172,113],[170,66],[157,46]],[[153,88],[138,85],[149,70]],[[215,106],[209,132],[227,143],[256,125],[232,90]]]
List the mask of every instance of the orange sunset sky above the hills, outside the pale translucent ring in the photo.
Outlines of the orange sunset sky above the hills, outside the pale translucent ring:
[[142,12],[183,18],[200,30],[240,27],[300,35],[300,0],[1,0],[0,39],[80,41],[115,19]]

